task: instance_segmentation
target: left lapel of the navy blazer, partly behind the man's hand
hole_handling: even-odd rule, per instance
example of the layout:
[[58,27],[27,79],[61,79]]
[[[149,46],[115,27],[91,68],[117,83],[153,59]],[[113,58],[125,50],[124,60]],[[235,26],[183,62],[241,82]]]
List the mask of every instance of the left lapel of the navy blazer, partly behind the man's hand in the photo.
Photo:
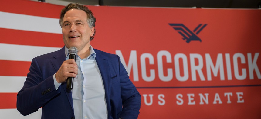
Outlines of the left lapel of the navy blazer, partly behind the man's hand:
[[[51,60],[52,64],[53,64],[53,67],[55,69],[55,71],[57,72],[61,65],[63,64],[63,61],[66,60],[66,57],[65,57],[65,46],[58,50],[56,55],[53,56],[53,60]],[[65,94],[66,94],[66,97],[68,98],[69,102],[70,102],[70,105],[72,107],[72,110],[73,110],[73,97],[72,97],[72,91],[71,90],[67,90],[66,89],[66,86],[67,86],[67,81],[62,83],[61,84],[61,88],[63,88],[62,90],[64,90]]]

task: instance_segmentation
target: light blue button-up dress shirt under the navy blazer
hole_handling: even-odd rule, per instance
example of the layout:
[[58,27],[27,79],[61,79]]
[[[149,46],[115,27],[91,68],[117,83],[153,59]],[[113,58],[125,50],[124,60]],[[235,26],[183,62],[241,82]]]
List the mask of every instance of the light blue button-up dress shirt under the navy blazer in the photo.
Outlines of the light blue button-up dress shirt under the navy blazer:
[[[68,48],[65,47],[66,60],[69,59]],[[78,74],[73,80],[73,109],[75,119],[107,119],[107,105],[102,77],[95,60],[96,53],[90,46],[90,55],[81,59],[76,56]],[[56,90],[58,83],[53,76]]]

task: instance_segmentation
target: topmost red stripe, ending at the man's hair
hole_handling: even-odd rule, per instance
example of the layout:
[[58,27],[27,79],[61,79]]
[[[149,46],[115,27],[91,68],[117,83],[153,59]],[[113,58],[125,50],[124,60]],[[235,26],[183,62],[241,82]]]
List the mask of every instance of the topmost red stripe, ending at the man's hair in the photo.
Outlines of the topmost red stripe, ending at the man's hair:
[[[0,11],[16,14],[59,18],[64,6],[29,0],[6,0],[1,2]],[[19,19],[18,19],[19,21]]]

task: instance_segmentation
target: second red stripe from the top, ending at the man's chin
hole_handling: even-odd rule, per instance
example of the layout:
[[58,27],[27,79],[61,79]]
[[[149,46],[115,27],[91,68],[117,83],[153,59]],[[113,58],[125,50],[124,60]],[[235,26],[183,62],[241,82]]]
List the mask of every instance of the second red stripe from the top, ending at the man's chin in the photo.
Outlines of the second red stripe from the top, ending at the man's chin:
[[0,43],[46,46],[46,47],[63,47],[63,35],[52,34],[34,31],[22,31],[0,28],[0,33],[5,34],[5,37],[0,39]]

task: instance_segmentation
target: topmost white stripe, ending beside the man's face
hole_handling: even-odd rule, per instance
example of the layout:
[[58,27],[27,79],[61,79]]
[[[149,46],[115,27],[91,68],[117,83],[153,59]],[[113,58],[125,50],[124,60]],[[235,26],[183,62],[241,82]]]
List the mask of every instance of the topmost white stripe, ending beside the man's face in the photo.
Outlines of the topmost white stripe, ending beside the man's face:
[[0,16],[1,28],[62,34],[59,19],[56,18],[38,17],[2,11],[0,11]]

